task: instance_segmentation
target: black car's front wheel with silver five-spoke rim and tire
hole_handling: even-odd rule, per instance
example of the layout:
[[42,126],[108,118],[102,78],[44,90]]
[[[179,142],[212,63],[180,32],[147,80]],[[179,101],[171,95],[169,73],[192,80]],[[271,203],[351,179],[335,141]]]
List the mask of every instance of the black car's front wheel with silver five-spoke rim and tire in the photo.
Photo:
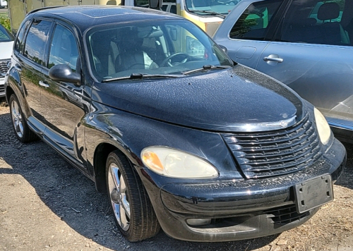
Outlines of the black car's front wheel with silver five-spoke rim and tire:
[[150,198],[128,159],[117,150],[108,155],[106,176],[108,198],[121,235],[130,242],[155,236],[160,224]]

